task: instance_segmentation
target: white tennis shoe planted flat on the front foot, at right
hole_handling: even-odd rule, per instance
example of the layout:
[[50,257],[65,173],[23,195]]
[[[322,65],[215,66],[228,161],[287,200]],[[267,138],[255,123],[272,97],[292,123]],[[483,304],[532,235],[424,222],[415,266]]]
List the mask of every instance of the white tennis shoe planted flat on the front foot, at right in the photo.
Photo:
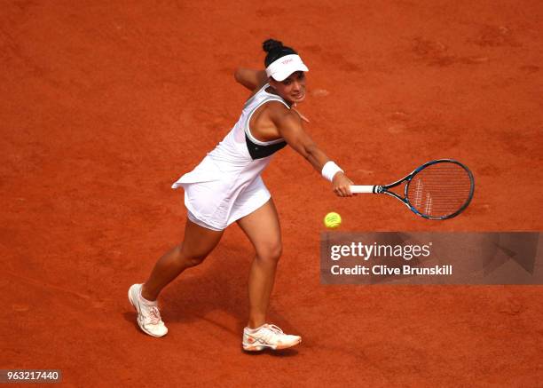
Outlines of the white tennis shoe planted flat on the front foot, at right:
[[301,342],[302,337],[285,334],[277,326],[268,323],[257,329],[243,329],[243,350],[248,352],[259,352],[265,348],[287,349]]

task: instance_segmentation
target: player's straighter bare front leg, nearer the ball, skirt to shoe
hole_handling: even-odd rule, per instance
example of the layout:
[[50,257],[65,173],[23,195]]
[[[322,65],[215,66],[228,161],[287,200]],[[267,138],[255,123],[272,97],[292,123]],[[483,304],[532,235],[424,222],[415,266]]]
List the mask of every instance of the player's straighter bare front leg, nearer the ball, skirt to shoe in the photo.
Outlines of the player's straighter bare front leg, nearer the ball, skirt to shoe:
[[256,249],[256,257],[248,278],[248,328],[256,329],[265,323],[275,270],[281,256],[279,218],[273,201],[238,220],[238,225]]

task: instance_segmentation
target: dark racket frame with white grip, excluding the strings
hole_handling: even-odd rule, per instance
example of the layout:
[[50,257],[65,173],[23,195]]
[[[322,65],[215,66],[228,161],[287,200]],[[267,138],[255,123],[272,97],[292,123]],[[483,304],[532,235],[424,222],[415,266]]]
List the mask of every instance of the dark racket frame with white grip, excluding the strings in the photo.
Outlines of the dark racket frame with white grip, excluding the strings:
[[[409,202],[409,199],[407,198],[407,192],[409,190],[409,184],[411,183],[412,179],[419,172],[421,172],[421,170],[424,170],[425,168],[427,168],[427,167],[429,167],[429,166],[431,166],[433,164],[443,163],[443,162],[451,162],[451,163],[458,164],[462,169],[466,170],[466,172],[468,173],[468,176],[469,176],[469,180],[471,182],[471,186],[469,188],[468,200],[460,207],[459,210],[456,210],[454,213],[449,214],[447,216],[433,217],[433,216],[429,216],[428,214],[421,213],[419,210],[416,210],[413,207],[413,205],[411,204],[411,202]],[[404,197],[403,198],[401,196],[399,196],[398,194],[389,191],[390,188],[399,186],[404,182],[406,182],[406,183],[405,183]],[[469,204],[469,202],[471,202],[471,199],[473,198],[473,193],[475,191],[475,179],[473,178],[472,172],[464,164],[462,164],[462,163],[460,163],[458,161],[455,161],[453,159],[437,159],[437,160],[434,160],[434,161],[431,161],[431,162],[426,162],[426,163],[422,164],[420,167],[417,167],[416,169],[414,169],[410,174],[407,174],[404,178],[398,179],[396,182],[393,182],[390,185],[384,185],[384,186],[378,186],[378,185],[376,185],[376,186],[358,186],[358,185],[355,185],[355,186],[350,186],[350,191],[351,191],[351,193],[355,193],[355,194],[358,194],[358,193],[362,193],[362,194],[364,194],[364,193],[388,194],[388,195],[396,198],[398,201],[404,203],[405,206],[407,206],[407,208],[409,210],[413,211],[413,213],[415,213],[417,216],[420,216],[421,218],[434,219],[434,220],[443,220],[443,219],[449,219],[449,218],[453,218],[453,217],[458,216],[463,210],[465,210],[468,207],[468,204]]]

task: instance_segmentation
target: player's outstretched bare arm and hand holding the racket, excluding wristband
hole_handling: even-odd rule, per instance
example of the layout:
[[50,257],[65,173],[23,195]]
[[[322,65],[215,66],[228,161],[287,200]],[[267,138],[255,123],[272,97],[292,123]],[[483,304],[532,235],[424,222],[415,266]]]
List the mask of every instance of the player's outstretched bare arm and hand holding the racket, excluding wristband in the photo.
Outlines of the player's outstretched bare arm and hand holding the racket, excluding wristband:
[[[321,173],[322,168],[330,159],[327,157],[317,144],[311,139],[310,135],[303,130],[302,120],[299,115],[292,111],[276,111],[271,115],[271,120],[276,124],[280,136],[292,146],[298,154],[301,154],[313,168]],[[350,186],[353,184],[350,178],[338,171],[332,179],[334,192],[339,196],[351,196]]]

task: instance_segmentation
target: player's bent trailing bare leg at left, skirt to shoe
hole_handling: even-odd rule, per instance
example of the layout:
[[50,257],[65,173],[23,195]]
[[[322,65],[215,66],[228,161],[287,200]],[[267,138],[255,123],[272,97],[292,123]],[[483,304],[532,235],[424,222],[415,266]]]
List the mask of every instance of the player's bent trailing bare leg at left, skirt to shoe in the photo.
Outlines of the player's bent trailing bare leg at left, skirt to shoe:
[[199,265],[221,240],[223,232],[216,232],[186,220],[182,243],[165,253],[154,265],[153,272],[141,289],[141,296],[153,301],[169,282],[185,271]]

